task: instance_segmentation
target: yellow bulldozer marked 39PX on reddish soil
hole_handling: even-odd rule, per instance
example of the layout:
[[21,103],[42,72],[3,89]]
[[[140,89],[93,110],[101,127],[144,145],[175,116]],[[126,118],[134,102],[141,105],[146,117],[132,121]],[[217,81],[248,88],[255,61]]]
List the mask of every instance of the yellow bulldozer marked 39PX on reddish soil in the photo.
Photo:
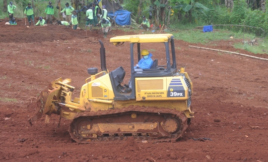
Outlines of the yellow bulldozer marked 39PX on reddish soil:
[[[36,115],[28,121],[52,113],[72,120],[68,132],[78,143],[120,141],[131,136],[137,141],[155,142],[182,137],[194,117],[190,108],[193,84],[185,67],[177,69],[174,36],[149,34],[110,39],[115,46],[130,43],[131,85],[125,86],[124,68],[111,72],[106,69],[105,48],[99,42],[101,72],[87,69],[90,77],[85,79],[80,97],[72,98],[70,79],[59,78],[41,92]],[[149,69],[134,68],[134,61],[141,59],[140,47],[147,43],[163,46],[163,65],[155,59]]]

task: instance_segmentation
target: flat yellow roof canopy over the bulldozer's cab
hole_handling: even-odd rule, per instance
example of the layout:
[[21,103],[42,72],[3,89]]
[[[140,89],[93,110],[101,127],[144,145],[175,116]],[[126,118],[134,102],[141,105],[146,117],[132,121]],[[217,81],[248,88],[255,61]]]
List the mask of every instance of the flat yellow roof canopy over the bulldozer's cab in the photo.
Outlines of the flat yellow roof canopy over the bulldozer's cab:
[[120,42],[130,43],[154,43],[154,42],[168,42],[172,34],[144,34],[144,35],[128,35],[117,36],[110,39],[114,45],[120,44]]

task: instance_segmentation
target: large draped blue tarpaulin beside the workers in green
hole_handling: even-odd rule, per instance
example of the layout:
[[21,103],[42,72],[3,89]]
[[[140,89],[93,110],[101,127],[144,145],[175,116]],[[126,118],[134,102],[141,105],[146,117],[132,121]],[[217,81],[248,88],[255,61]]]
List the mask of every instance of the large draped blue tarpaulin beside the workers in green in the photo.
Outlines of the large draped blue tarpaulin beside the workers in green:
[[115,22],[118,25],[131,25],[131,12],[127,10],[117,10],[115,11],[115,15],[113,12],[108,12],[108,16],[114,19],[116,16]]

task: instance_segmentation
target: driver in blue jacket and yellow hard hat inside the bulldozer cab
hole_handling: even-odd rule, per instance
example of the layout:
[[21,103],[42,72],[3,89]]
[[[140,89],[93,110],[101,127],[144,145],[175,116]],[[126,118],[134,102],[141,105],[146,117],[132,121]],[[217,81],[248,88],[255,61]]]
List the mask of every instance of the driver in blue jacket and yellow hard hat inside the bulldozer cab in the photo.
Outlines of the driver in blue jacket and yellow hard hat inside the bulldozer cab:
[[141,55],[143,58],[141,58],[138,61],[138,64],[134,66],[134,68],[141,68],[141,69],[149,69],[152,66],[153,60],[151,58],[152,54],[149,53],[147,50],[142,50]]

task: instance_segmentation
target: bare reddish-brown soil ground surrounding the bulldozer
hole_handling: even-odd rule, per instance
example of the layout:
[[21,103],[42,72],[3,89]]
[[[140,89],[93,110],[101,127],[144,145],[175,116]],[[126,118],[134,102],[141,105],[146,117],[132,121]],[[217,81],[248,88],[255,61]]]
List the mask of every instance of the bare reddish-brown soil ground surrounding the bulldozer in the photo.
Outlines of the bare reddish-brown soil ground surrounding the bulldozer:
[[[84,31],[64,26],[20,24],[0,22],[0,161],[268,162],[268,61],[189,48],[211,46],[176,38],[177,63],[186,66],[194,84],[195,118],[185,137],[176,143],[136,143],[129,138],[124,143],[79,145],[67,132],[70,121],[62,119],[55,132],[57,115],[49,124],[42,117],[29,125],[26,120],[34,115],[35,98],[59,77],[72,79],[78,96],[87,68],[100,69],[98,39],[106,48],[107,68],[123,66],[130,73],[129,44],[114,47],[109,38],[143,31],[112,30],[103,39],[94,29],[84,38]],[[232,47],[236,41],[241,40],[213,42],[213,48],[237,52]],[[165,57],[158,52],[160,46],[142,48],[158,60]],[[126,75],[125,80],[129,78]],[[191,139],[201,137],[212,141]]]

